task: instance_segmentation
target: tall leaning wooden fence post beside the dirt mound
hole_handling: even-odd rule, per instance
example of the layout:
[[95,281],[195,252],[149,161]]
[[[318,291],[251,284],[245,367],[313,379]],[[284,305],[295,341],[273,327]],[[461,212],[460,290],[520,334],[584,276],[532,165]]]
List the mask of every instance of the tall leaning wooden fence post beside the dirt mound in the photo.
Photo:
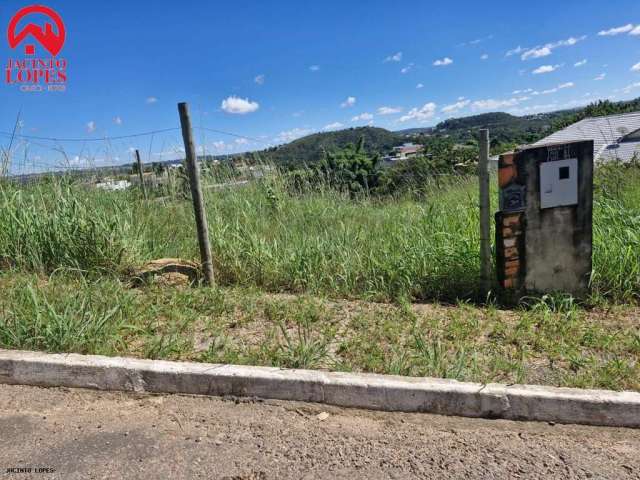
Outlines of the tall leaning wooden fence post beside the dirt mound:
[[193,142],[189,106],[184,102],[179,103],[178,112],[180,113],[180,125],[182,126],[182,139],[184,140],[184,152],[187,163],[187,173],[189,174],[189,184],[191,186],[193,211],[196,216],[196,227],[198,229],[200,259],[202,261],[205,281],[207,285],[212,286],[214,284],[214,278],[211,245],[209,244],[209,227],[207,225],[207,214],[205,211],[202,189],[200,187],[200,168],[198,166],[195,144]]

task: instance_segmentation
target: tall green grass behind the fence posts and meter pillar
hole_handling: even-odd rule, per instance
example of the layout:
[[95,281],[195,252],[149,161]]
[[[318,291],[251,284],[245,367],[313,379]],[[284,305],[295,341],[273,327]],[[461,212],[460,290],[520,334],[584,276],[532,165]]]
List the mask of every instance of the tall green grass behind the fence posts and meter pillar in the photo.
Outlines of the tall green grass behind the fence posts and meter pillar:
[[[617,174],[602,174],[608,186],[601,182],[596,193],[593,286],[628,301],[640,295],[640,173],[618,168],[625,171],[613,180]],[[354,199],[322,186],[292,193],[281,175],[210,188],[218,281],[375,300],[476,298],[476,188],[475,178],[459,178],[423,189],[419,199]],[[118,273],[151,258],[195,259],[193,224],[184,199],[143,201],[135,191],[64,180],[4,184],[0,268]]]

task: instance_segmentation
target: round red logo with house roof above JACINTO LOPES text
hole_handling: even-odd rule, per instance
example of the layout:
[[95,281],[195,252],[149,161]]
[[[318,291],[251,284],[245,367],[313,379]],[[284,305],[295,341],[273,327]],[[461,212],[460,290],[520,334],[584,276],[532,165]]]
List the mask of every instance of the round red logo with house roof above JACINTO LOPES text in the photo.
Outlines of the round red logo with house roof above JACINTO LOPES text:
[[[28,23],[25,27],[22,28],[22,30],[20,30],[20,32],[16,33],[18,22],[31,13],[41,13],[51,19],[56,24],[58,33],[53,33],[52,25],[49,22],[44,24],[44,32],[42,31],[42,27],[40,25]],[[18,11],[18,13],[16,13],[11,19],[11,22],[9,23],[9,30],[7,31],[9,46],[11,48],[16,48],[29,35],[35,38],[38,43],[40,43],[40,45],[46,48],[47,51],[55,57],[58,53],[60,53],[60,50],[62,50],[66,32],[64,30],[64,23],[62,22],[62,18],[60,17],[60,15],[58,15],[57,12],[50,9],[49,7],[45,7],[44,5],[31,5],[29,7],[24,7],[23,9]],[[25,55],[34,55],[34,45],[25,45],[24,53]]]

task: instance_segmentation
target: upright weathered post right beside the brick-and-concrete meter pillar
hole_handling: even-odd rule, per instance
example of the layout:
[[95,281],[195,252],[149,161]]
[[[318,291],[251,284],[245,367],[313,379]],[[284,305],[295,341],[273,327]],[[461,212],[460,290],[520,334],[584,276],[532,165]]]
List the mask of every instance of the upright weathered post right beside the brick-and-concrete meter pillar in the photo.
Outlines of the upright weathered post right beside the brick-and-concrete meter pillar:
[[480,130],[480,284],[486,297],[491,290],[491,218],[489,201],[489,130]]

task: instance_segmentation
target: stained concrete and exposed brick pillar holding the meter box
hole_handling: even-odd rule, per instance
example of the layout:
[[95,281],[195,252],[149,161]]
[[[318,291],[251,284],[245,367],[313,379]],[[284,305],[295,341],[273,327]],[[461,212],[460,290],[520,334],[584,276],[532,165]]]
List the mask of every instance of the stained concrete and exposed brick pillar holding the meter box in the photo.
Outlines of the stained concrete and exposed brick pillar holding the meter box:
[[589,289],[593,141],[532,146],[500,157],[496,268],[518,295]]

